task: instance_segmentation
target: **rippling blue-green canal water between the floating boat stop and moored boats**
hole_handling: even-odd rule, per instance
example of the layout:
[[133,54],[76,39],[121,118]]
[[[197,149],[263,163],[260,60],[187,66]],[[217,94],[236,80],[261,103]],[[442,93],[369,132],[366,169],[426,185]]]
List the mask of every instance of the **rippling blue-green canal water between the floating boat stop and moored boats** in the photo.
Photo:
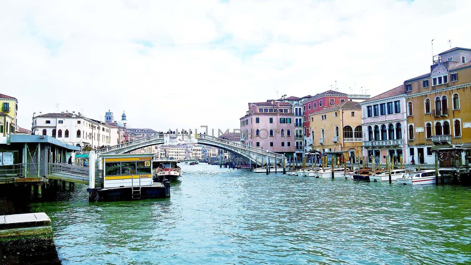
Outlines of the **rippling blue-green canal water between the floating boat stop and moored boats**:
[[471,188],[181,165],[171,198],[33,203],[63,264],[470,264]]

